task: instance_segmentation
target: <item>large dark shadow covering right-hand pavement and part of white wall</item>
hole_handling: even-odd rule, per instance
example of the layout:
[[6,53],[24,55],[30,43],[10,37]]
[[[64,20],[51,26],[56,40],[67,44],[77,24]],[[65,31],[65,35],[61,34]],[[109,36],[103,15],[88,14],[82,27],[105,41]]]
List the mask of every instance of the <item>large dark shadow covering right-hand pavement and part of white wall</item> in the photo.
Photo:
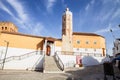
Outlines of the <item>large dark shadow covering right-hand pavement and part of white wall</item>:
[[[106,61],[106,57],[102,59],[102,62]],[[104,80],[103,64],[100,64],[97,59],[92,56],[84,56],[82,58],[82,68],[72,68],[66,71],[69,73],[66,80]]]

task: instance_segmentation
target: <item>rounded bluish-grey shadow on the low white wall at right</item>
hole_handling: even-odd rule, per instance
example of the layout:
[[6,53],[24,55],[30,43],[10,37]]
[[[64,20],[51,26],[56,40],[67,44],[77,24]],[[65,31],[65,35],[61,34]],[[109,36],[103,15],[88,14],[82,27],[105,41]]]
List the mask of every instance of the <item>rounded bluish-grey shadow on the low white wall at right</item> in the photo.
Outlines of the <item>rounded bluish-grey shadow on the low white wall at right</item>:
[[91,66],[91,65],[98,65],[100,64],[97,59],[92,56],[84,56],[82,58],[83,66]]

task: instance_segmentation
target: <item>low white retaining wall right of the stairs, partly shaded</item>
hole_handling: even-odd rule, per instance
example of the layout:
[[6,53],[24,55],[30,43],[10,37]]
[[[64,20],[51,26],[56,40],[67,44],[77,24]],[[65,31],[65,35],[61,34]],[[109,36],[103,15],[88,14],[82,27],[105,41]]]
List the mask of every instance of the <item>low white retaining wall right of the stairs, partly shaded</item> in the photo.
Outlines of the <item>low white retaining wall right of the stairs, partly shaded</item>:
[[[65,67],[74,67],[76,64],[75,55],[59,55]],[[105,57],[81,56],[83,66],[102,64],[107,59]]]

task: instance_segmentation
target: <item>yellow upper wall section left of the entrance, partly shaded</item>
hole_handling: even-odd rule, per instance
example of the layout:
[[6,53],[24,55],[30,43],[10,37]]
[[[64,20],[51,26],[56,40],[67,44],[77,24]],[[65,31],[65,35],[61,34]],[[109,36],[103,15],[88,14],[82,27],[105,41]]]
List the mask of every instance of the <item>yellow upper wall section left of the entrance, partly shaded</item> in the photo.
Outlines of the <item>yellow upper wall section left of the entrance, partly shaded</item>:
[[43,49],[43,38],[40,37],[1,33],[0,46],[6,46],[6,42],[4,40],[9,42],[9,47],[35,50]]

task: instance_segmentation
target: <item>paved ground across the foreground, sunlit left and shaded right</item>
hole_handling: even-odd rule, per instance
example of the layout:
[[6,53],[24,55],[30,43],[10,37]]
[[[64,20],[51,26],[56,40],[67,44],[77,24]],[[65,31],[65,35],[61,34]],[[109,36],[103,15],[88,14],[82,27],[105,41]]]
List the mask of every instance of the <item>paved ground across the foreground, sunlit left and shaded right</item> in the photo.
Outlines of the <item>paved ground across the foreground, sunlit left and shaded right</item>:
[[[115,69],[115,73],[120,74],[117,69]],[[102,65],[69,68],[65,73],[0,70],[0,80],[104,80],[104,74]],[[112,77],[108,76],[108,80],[112,80]]]

